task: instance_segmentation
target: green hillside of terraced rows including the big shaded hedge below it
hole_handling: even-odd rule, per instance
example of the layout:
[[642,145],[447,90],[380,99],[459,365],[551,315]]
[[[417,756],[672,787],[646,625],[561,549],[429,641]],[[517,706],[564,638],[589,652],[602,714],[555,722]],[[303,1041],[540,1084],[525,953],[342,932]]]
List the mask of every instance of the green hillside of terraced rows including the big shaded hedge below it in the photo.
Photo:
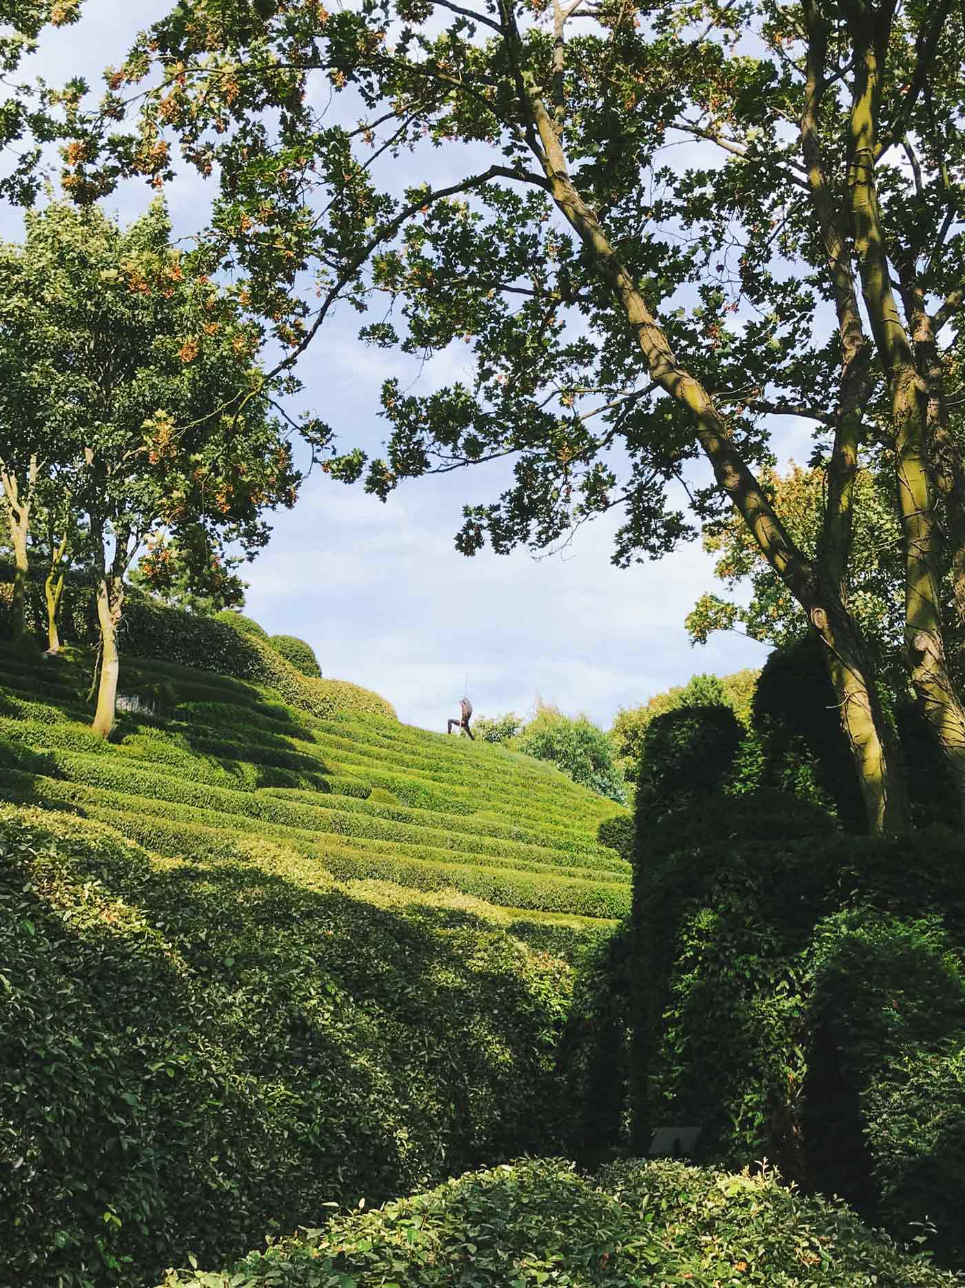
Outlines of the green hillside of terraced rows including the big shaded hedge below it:
[[103,742],[89,668],[0,652],[0,1282],[133,1288],[562,1148],[612,802],[145,658]]

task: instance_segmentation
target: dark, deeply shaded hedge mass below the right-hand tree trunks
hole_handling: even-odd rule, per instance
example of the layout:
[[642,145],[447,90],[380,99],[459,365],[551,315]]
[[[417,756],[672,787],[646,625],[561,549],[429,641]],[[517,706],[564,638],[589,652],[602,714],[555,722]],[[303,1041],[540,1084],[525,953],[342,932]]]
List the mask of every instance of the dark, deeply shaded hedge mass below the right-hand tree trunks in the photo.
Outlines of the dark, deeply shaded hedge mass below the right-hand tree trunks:
[[767,1157],[902,1239],[928,1216],[960,1262],[960,840],[836,833],[782,793],[710,799],[638,820],[634,917],[637,1141],[701,1123],[705,1157]]

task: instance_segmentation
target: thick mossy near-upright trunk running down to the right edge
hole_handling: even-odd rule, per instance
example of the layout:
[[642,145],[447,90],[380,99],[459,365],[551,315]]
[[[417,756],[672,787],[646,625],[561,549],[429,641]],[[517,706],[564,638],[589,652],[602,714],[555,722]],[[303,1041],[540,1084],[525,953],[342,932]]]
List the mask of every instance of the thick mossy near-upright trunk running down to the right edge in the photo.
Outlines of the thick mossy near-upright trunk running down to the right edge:
[[919,705],[955,773],[965,820],[965,707],[944,652],[941,611],[939,532],[935,523],[925,439],[926,384],[898,314],[888,267],[875,160],[878,106],[890,21],[852,19],[856,62],[850,108],[850,188],[854,252],[871,328],[888,380],[894,425],[898,513],[905,546],[905,645]]

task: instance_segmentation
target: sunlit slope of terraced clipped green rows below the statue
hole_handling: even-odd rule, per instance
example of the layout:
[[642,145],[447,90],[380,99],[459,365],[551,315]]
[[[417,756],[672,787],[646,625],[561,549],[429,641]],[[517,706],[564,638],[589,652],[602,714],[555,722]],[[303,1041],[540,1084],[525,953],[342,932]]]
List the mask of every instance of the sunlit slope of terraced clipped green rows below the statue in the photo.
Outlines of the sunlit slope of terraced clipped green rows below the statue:
[[84,687],[81,659],[0,654],[8,800],[82,813],[167,857],[270,841],[342,881],[458,893],[530,921],[628,911],[628,866],[596,842],[615,808],[552,766],[378,716],[320,720],[252,684],[138,659],[122,692],[163,687],[178,706],[166,721],[124,715],[106,744]]

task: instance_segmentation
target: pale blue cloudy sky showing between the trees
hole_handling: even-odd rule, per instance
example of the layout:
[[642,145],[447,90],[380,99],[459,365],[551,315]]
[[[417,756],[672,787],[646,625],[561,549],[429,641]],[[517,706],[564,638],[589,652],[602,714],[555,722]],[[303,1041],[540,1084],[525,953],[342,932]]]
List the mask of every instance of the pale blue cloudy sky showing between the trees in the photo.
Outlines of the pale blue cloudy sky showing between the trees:
[[[169,6],[85,0],[80,23],[42,33],[22,70],[54,84],[81,75],[99,93],[103,67],[121,63],[133,35]],[[399,183],[437,178],[425,164],[394,162]],[[193,174],[167,185],[178,236],[205,225],[210,196]],[[106,205],[130,219],[149,197],[147,185],[127,184]],[[14,213],[0,214],[0,233],[15,237],[18,227]],[[461,359],[446,352],[431,370],[410,370],[398,355],[364,348],[358,326],[356,314],[342,313],[319,335],[299,367],[301,402],[335,428],[341,447],[378,453],[382,380],[403,375],[416,381],[413,393],[427,393],[458,375]],[[382,504],[360,486],[310,475],[296,507],[275,516],[268,549],[244,569],[246,612],[269,632],[308,640],[324,675],[376,689],[400,719],[428,729],[445,729],[464,687],[477,716],[525,715],[540,697],[609,726],[619,707],[695,672],[762,665],[767,649],[740,635],[691,647],[686,614],[701,594],[722,589],[699,544],[620,571],[610,563],[619,516],[607,515],[558,555],[458,554],[462,506],[494,500],[499,479],[493,469],[473,469],[408,482]]]

